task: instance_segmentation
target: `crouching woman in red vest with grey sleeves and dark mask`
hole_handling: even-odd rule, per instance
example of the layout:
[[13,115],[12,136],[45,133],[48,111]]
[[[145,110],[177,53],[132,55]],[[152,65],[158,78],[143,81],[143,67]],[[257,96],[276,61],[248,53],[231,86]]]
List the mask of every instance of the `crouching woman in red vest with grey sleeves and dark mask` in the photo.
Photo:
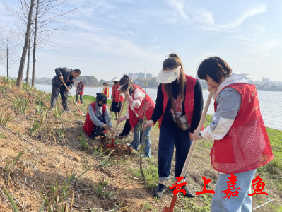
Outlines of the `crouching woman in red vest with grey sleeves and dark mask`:
[[98,95],[96,102],[87,107],[86,121],[83,131],[90,138],[105,136],[105,132],[112,131],[112,122],[109,110],[107,109],[107,97],[104,94]]

